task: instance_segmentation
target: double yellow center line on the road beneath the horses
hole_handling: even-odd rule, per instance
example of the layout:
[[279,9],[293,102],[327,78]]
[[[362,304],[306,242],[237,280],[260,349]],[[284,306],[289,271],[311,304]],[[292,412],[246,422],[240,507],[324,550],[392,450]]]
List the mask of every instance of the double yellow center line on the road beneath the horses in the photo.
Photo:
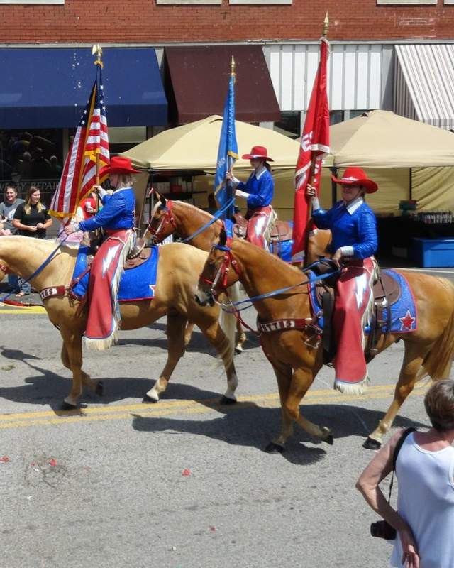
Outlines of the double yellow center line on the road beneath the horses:
[[[349,403],[357,400],[372,400],[377,398],[387,398],[392,395],[394,386],[380,385],[370,388],[363,395],[341,395],[335,391],[314,391],[308,393],[303,400],[303,404],[333,404]],[[426,393],[424,386],[417,386],[412,393],[413,396],[421,396]],[[131,417],[160,417],[170,416],[176,412],[181,415],[206,414],[214,410],[243,410],[244,408],[278,408],[279,396],[276,393],[265,395],[255,395],[238,399],[237,405],[225,407],[219,405],[214,399],[201,400],[177,400],[167,403],[158,403],[148,408],[143,404],[118,405],[110,407],[84,408],[82,410],[70,410],[56,413],[43,411],[37,413],[16,413],[0,415],[0,430],[11,428],[23,428],[31,426],[46,426],[71,424],[74,422],[105,422],[107,420],[125,420]],[[383,409],[385,410],[385,409]],[[136,412],[135,412],[136,411]]]

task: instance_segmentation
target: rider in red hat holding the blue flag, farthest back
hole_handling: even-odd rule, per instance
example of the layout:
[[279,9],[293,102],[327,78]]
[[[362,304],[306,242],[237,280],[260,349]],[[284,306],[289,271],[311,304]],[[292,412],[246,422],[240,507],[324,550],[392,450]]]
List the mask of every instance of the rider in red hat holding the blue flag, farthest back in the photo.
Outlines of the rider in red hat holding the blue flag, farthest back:
[[244,160],[250,160],[253,173],[250,174],[247,182],[237,180],[231,172],[226,175],[227,180],[233,181],[236,188],[236,197],[243,197],[248,203],[248,231],[246,239],[250,243],[266,248],[265,233],[272,217],[272,196],[275,191],[275,182],[272,179],[271,168],[268,162],[272,158],[267,155],[264,146],[254,146],[249,154],[242,156]]

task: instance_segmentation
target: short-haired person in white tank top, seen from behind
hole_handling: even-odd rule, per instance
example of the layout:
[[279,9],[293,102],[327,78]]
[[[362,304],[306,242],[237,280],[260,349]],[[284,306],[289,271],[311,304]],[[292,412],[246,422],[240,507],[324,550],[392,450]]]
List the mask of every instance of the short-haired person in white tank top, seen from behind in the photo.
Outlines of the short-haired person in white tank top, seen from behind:
[[432,427],[406,437],[396,462],[397,511],[379,484],[392,471],[397,432],[362,472],[359,491],[398,532],[391,566],[454,567],[454,381],[433,383],[424,399]]

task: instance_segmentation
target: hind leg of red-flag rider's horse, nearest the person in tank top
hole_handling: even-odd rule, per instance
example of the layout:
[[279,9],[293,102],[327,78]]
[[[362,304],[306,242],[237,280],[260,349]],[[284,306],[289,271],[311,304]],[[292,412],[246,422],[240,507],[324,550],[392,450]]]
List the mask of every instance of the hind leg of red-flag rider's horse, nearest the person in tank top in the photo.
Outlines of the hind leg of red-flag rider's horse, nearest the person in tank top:
[[421,345],[406,342],[404,362],[402,363],[402,368],[399,373],[399,381],[397,381],[394,390],[394,400],[375,430],[367,437],[364,444],[362,444],[366,449],[380,449],[382,446],[383,436],[387,434],[392,427],[392,422],[394,422],[399,408],[404,403],[406,397],[413,391],[416,376],[430,348],[430,346],[421,348]]

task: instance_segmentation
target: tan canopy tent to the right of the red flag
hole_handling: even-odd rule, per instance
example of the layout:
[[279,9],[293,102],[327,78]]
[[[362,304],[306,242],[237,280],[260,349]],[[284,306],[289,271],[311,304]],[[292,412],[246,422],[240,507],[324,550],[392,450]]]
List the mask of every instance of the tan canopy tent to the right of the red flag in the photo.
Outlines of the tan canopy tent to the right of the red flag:
[[[370,111],[330,129],[325,165],[358,165],[379,185],[367,196],[377,213],[397,212],[410,197],[418,209],[454,209],[454,134],[389,111]],[[331,204],[329,170],[322,202]]]

